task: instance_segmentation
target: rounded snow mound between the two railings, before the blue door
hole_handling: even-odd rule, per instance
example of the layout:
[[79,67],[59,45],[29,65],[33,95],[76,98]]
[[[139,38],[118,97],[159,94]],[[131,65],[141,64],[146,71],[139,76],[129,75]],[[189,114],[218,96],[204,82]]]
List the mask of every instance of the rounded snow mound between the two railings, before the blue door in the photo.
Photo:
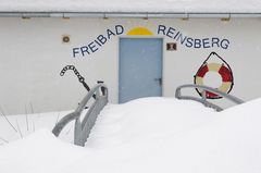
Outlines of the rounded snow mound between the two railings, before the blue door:
[[[189,109],[188,109],[189,108]],[[124,104],[109,104],[98,116],[88,147],[115,147],[132,143],[154,143],[213,121],[216,112],[194,101],[144,98]]]

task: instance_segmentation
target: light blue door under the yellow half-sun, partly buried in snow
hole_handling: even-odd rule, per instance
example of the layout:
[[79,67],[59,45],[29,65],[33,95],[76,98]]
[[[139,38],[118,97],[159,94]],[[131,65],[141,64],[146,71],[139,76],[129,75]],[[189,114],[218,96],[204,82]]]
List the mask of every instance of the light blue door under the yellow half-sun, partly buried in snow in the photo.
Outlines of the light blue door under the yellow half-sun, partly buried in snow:
[[162,96],[161,38],[121,38],[119,102]]

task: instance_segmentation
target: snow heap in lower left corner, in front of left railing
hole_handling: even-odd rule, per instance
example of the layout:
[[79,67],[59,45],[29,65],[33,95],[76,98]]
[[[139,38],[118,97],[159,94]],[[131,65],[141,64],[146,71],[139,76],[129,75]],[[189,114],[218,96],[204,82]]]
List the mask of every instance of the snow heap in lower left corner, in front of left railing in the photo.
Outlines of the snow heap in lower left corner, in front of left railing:
[[0,147],[2,173],[54,173],[72,164],[87,150],[58,139],[48,129]]

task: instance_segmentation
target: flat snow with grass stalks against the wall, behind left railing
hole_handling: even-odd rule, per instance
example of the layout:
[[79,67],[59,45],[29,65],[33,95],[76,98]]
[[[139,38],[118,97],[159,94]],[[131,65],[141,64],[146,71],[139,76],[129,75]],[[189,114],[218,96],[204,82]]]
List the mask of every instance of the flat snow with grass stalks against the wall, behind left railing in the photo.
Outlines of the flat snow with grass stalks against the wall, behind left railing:
[[[0,115],[0,145],[23,138],[37,129],[52,129],[63,115],[72,111],[48,112],[35,114]],[[62,133],[62,138],[69,141],[73,139],[73,122]]]

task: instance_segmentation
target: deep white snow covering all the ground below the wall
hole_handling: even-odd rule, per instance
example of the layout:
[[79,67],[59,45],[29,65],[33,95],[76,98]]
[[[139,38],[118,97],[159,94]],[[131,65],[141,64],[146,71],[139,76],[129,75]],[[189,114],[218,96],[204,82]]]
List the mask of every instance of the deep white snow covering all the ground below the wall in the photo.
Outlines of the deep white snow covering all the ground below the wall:
[[260,173],[260,104],[219,113],[171,98],[109,104],[84,148],[70,144],[73,124],[60,139],[50,133],[67,112],[8,116],[17,132],[0,116],[0,172]]

